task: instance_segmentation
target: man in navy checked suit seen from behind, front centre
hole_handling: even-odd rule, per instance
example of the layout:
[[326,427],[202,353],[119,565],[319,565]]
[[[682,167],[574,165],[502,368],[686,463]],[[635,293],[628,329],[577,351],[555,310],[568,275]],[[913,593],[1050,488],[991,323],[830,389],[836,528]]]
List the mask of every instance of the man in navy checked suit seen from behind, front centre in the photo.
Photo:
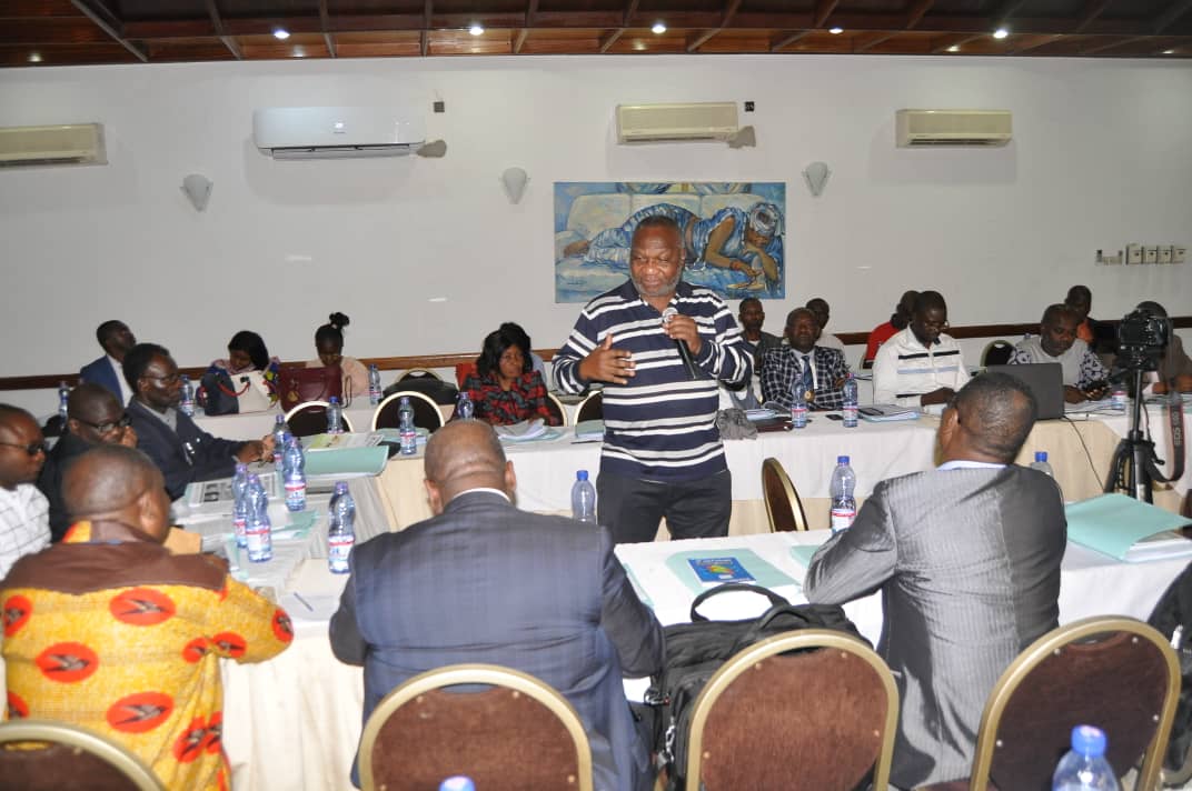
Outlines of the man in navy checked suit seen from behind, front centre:
[[430,437],[426,477],[435,516],[358,544],[331,618],[335,655],[365,667],[365,722],[418,673],[504,665],[576,708],[597,789],[648,787],[647,747],[621,679],[662,667],[663,630],[634,594],[608,530],[515,509],[513,463],[477,421]]

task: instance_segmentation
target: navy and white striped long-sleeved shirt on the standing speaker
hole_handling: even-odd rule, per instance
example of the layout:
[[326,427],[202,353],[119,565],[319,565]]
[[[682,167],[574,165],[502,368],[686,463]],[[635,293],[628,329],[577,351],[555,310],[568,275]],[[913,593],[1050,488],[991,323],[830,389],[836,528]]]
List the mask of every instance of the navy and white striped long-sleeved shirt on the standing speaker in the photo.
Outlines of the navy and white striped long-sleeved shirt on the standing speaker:
[[604,448],[601,472],[645,480],[697,480],[727,469],[716,429],[716,380],[738,384],[751,375],[750,353],[728,306],[714,292],[679,282],[670,304],[699,325],[694,355],[702,375],[690,381],[662,313],[627,280],[588,303],[554,356],[559,390],[578,393],[579,363],[611,334],[613,347],[633,354],[627,385],[604,385]]

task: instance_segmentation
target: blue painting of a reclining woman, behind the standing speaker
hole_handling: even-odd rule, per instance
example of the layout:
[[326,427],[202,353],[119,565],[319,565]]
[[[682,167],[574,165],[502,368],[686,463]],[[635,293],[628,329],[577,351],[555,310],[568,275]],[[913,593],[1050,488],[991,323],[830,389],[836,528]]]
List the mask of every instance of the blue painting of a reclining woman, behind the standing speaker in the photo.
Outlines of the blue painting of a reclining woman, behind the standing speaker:
[[725,299],[787,295],[784,182],[557,181],[554,301],[585,303],[623,284],[633,230],[654,214],[683,232],[683,280]]

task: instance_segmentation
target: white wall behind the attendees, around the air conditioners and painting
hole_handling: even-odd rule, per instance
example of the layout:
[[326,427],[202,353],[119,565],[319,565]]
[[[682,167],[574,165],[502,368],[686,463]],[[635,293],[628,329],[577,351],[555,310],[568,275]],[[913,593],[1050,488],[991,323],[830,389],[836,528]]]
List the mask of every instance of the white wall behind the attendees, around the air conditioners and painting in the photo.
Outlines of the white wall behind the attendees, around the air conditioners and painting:
[[[446,113],[429,112],[443,100]],[[621,147],[619,102],[752,100],[758,145]],[[252,143],[263,106],[427,110],[421,157],[275,162]],[[899,150],[900,107],[1005,107],[1014,142]],[[937,287],[956,324],[1037,320],[1073,282],[1099,317],[1140,298],[1192,306],[1188,264],[1098,267],[1097,249],[1190,242],[1187,61],[828,56],[476,57],[287,61],[0,73],[0,125],[101,122],[106,167],[0,174],[0,376],[76,370],[94,326],[122,317],[182,365],[224,356],[235,330],[302,359],[333,310],[347,353],[478,349],[504,319],[560,344],[579,305],[554,304],[552,185],[784,180],[789,298],[833,305],[831,328],[886,319]],[[812,198],[801,170],[827,162]],[[524,199],[498,180],[520,166]],[[180,191],[215,182],[205,212]],[[44,410],[43,410],[44,411]]]

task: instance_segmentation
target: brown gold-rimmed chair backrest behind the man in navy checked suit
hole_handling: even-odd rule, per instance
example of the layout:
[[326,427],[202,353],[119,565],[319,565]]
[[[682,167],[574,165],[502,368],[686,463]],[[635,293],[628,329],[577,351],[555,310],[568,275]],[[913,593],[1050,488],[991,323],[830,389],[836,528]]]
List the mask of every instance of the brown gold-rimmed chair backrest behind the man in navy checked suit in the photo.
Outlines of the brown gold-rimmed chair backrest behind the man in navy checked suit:
[[[471,689],[445,689],[460,685]],[[452,774],[478,789],[591,791],[591,748],[579,715],[547,684],[496,665],[449,665],[377,705],[360,739],[360,779],[365,791],[421,791]]]

